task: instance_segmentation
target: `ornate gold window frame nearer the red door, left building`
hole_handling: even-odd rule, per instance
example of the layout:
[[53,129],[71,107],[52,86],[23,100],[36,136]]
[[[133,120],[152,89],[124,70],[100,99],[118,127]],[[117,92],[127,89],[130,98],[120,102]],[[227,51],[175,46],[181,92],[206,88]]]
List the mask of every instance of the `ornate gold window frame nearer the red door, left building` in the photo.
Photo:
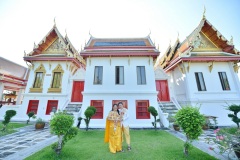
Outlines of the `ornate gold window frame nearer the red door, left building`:
[[[61,73],[61,77],[59,79],[59,87],[58,88],[52,88],[53,81],[54,81],[54,73]],[[64,70],[62,69],[62,66],[58,64],[55,69],[52,71],[52,81],[51,86],[48,88],[48,93],[61,93],[62,92],[62,77],[63,77]]]

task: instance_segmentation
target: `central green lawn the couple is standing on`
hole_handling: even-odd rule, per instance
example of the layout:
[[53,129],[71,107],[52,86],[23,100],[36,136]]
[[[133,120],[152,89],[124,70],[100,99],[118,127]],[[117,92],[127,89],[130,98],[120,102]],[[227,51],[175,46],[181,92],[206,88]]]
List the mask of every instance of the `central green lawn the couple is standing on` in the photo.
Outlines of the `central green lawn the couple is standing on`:
[[189,156],[183,154],[184,142],[165,131],[131,130],[132,151],[127,151],[127,145],[123,142],[125,152],[110,153],[108,143],[103,142],[104,131],[90,130],[79,131],[78,135],[68,141],[59,157],[55,155],[50,146],[28,157],[26,160],[42,159],[87,159],[87,160],[213,160],[214,157],[193,147]]

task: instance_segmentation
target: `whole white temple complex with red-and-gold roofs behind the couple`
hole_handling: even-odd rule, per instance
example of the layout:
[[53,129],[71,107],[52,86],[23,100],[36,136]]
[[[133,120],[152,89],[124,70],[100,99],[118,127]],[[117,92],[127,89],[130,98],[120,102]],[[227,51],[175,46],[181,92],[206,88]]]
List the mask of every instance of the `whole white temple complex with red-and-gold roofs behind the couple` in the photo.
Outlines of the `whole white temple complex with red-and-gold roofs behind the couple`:
[[[200,107],[202,114],[218,117],[218,125],[226,126],[233,124],[226,106],[240,104],[240,52],[205,16],[185,40],[177,38],[162,55],[149,35],[90,35],[78,52],[54,24],[23,59],[28,69],[0,59],[0,119],[8,109],[16,110],[13,120],[21,121],[31,111],[49,121],[54,112],[65,110],[76,123],[88,106],[94,106],[90,127],[104,128],[112,105],[121,101],[132,128],[152,127],[149,106],[168,127],[168,116],[186,105]],[[4,100],[4,90],[16,91],[11,104]]]

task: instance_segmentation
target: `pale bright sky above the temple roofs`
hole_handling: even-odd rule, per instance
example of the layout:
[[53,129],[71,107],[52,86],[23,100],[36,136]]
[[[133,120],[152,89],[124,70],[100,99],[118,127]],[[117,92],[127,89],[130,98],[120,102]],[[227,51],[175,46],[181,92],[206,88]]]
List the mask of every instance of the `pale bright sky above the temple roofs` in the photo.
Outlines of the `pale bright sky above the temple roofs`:
[[183,41],[208,21],[240,50],[240,0],[0,0],[0,56],[26,66],[33,50],[52,29],[67,33],[77,50],[97,38],[146,37],[161,55],[178,34]]

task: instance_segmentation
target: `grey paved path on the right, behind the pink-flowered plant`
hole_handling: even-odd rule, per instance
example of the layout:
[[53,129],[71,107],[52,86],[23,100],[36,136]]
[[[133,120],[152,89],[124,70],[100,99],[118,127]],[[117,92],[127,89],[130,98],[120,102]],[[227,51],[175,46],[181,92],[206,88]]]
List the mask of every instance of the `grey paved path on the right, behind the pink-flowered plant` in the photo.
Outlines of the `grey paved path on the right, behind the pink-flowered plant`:
[[[203,132],[203,134],[199,137],[199,140],[197,141],[194,141],[193,142],[193,146],[202,150],[203,152],[206,152],[207,154],[211,155],[211,156],[214,156],[215,158],[217,159],[220,159],[220,160],[238,160],[238,158],[236,157],[235,153],[231,153],[229,154],[229,158],[228,158],[228,155],[227,154],[218,154],[219,153],[219,150],[217,149],[217,145],[214,144],[214,143],[210,143],[208,144],[207,143],[207,138],[215,138],[216,135],[214,134],[213,132],[214,130],[205,130]],[[177,138],[185,141],[186,140],[186,136],[184,135],[183,132],[181,131],[174,131],[174,130],[167,130],[167,132],[169,132],[170,134],[176,136]],[[214,151],[210,150],[209,148],[210,147],[213,147],[215,148]],[[191,151],[190,151],[190,154],[191,154]]]

